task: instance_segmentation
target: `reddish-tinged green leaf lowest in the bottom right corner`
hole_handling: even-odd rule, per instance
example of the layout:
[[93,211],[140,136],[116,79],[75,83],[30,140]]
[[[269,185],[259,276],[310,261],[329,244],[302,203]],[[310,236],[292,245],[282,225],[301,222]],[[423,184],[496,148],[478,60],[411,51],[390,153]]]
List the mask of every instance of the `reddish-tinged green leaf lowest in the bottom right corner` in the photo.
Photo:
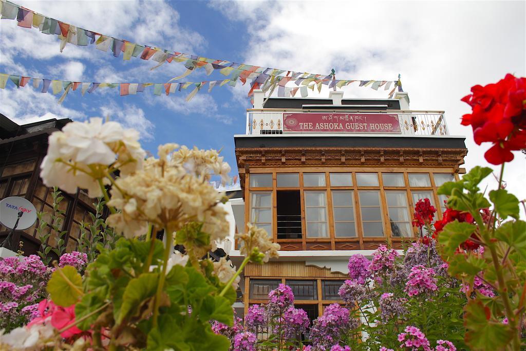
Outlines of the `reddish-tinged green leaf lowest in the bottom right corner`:
[[464,307],[464,326],[466,343],[475,350],[494,351],[502,349],[513,337],[513,332],[508,325],[492,322],[490,309],[481,302],[471,300]]

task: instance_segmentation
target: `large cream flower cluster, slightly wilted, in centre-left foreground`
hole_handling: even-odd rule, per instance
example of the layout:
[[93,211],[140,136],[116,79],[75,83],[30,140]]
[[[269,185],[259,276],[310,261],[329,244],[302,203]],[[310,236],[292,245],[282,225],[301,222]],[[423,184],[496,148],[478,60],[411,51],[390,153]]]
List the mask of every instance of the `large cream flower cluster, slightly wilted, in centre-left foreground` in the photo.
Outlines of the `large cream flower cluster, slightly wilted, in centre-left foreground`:
[[[209,173],[187,173],[181,158],[175,157],[179,153],[173,152],[176,147],[160,146],[159,159],[148,158],[143,170],[115,180],[108,205],[120,212],[110,215],[107,223],[133,237],[146,233],[148,223],[175,232],[189,222],[202,222],[214,248],[215,241],[225,238],[229,230],[227,213],[217,206],[223,196],[208,182]],[[217,152],[194,154],[217,158]]]

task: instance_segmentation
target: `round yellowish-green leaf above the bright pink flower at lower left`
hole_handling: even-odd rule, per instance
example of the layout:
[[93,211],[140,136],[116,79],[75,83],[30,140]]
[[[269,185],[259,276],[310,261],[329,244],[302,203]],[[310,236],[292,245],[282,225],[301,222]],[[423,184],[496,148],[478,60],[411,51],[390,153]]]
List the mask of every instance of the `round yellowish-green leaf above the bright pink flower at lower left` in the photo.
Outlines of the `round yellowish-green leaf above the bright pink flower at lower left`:
[[82,277],[72,266],[57,268],[51,275],[46,289],[56,305],[69,307],[83,295]]

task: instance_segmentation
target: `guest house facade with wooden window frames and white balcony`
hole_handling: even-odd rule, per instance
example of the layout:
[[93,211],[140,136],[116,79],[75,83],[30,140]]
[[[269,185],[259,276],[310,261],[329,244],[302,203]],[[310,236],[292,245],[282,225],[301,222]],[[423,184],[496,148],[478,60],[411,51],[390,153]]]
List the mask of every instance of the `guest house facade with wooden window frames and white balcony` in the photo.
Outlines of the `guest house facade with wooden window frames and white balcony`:
[[[230,200],[236,231],[254,223],[281,245],[280,257],[247,265],[238,314],[265,303],[279,283],[311,319],[340,302],[338,288],[353,254],[382,244],[401,249],[420,234],[413,206],[458,179],[464,137],[448,133],[441,111],[411,111],[407,93],[393,99],[268,98],[256,92],[246,134],[235,135],[240,177]],[[233,238],[231,238],[233,241]],[[228,254],[239,264],[238,243]]]

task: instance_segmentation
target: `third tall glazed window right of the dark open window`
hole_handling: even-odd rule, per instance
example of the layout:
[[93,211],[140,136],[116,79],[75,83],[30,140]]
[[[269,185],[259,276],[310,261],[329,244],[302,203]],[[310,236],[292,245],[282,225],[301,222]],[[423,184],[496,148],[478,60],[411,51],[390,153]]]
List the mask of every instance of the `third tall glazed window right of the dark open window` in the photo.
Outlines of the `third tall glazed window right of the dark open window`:
[[380,192],[360,190],[359,196],[363,236],[384,236]]

